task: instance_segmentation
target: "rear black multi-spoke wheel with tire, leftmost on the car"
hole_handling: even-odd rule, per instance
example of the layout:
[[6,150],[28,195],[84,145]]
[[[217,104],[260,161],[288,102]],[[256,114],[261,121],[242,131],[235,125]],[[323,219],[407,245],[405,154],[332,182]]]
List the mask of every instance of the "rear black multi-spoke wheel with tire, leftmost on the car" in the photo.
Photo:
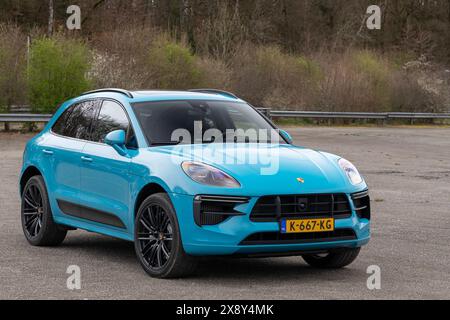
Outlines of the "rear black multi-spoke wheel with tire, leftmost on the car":
[[21,221],[25,238],[33,246],[57,246],[66,237],[67,230],[53,220],[42,176],[30,178],[23,189]]

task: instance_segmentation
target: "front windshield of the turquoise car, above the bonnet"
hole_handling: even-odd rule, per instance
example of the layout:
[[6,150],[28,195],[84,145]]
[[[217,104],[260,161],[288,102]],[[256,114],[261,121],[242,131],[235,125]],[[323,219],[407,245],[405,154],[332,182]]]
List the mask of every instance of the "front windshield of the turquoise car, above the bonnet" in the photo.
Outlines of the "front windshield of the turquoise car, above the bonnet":
[[205,143],[285,143],[278,131],[246,103],[162,101],[134,103],[152,146]]

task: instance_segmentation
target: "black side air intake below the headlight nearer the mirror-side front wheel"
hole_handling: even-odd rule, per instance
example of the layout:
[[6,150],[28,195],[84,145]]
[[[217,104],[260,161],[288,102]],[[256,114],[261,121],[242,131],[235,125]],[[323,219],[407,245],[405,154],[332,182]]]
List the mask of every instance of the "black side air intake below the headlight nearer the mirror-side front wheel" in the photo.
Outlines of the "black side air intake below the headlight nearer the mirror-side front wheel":
[[248,202],[244,197],[197,196],[194,200],[194,220],[199,226],[214,226],[230,217],[244,215],[235,210]]

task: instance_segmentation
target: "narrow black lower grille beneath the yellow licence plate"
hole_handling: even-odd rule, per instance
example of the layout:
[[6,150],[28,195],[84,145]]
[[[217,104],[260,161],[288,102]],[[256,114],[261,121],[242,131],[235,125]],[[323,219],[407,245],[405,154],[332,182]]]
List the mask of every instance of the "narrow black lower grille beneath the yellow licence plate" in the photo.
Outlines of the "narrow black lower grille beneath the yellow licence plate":
[[312,242],[333,242],[355,240],[356,234],[352,229],[336,229],[329,232],[312,233],[279,233],[261,232],[255,233],[244,239],[241,246],[275,245],[275,244],[297,244]]

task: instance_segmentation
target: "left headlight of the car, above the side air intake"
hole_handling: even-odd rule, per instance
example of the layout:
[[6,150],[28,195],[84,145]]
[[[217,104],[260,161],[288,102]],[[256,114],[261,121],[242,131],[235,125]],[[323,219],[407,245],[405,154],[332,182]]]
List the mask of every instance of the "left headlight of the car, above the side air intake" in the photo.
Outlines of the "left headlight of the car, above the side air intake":
[[240,188],[239,182],[222,170],[199,162],[183,162],[183,171],[194,181],[214,187]]

